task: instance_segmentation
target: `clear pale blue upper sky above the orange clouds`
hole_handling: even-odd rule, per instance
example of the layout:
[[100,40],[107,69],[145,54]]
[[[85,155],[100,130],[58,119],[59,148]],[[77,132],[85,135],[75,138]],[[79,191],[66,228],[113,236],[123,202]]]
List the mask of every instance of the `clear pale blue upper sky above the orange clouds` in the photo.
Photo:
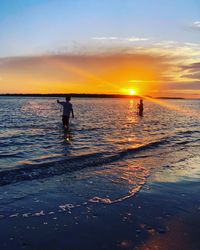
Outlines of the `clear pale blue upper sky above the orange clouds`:
[[0,57],[89,46],[94,37],[196,43],[199,10],[194,0],[1,0]]

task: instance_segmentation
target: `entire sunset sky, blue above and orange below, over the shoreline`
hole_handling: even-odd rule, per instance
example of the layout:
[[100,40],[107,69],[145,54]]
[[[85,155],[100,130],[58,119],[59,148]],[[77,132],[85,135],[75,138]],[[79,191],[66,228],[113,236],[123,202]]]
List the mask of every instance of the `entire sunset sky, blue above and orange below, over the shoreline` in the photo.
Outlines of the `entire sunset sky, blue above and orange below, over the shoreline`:
[[200,98],[199,0],[0,0],[0,93]]

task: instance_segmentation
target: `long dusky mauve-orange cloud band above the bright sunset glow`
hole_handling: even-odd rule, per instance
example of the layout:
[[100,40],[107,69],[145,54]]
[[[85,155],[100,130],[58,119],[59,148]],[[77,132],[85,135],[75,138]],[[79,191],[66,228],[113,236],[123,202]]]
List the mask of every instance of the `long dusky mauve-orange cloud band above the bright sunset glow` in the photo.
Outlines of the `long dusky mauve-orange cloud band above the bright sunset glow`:
[[[103,76],[113,80],[130,79],[130,75],[147,78],[155,75],[160,79],[169,68],[171,58],[147,53],[118,51],[102,54],[58,54],[34,57],[16,57],[0,60],[0,72],[49,75],[51,72],[63,72],[74,79],[84,78],[81,72]],[[145,75],[142,72],[145,71]],[[116,72],[118,72],[116,74]],[[132,72],[132,73],[131,73]],[[116,76],[115,76],[116,74]],[[57,75],[59,76],[59,75]],[[81,76],[81,77],[80,77]],[[149,79],[150,80],[150,79]]]

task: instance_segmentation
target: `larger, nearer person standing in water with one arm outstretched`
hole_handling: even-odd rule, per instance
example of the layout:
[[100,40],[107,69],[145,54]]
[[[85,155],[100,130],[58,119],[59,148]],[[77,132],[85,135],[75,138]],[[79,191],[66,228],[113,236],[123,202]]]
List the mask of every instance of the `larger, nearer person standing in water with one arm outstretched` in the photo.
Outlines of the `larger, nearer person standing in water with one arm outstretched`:
[[74,111],[72,108],[72,104],[70,103],[71,97],[66,96],[66,102],[60,102],[57,100],[57,103],[63,106],[63,116],[62,116],[62,122],[63,126],[68,130],[69,129],[69,117],[70,114],[72,114],[72,118],[74,118]]

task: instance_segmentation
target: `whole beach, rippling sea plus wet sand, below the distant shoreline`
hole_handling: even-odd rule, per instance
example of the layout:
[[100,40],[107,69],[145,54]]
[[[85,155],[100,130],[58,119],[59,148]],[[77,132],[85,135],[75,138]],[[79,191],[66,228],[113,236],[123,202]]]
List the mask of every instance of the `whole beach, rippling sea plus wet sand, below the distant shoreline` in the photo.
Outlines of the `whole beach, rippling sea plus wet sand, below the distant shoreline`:
[[2,249],[200,248],[199,101],[0,101]]

